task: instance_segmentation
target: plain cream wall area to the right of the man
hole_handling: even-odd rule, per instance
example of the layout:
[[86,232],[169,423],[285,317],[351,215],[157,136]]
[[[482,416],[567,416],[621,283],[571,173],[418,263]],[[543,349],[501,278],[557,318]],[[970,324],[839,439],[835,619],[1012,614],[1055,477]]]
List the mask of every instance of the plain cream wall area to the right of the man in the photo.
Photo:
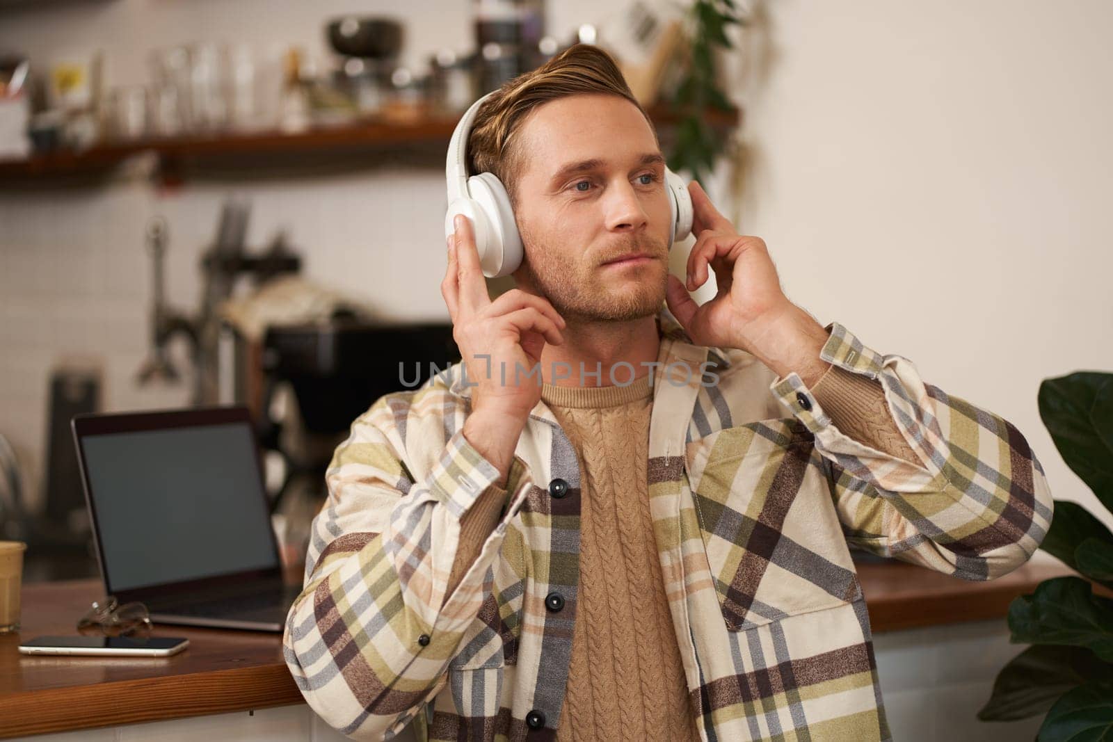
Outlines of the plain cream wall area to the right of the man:
[[[1026,436],[1041,379],[1113,370],[1113,4],[775,0],[732,69],[743,234],[820,321]],[[762,82],[764,80],[764,82]],[[1106,521],[1113,518],[1106,515]]]

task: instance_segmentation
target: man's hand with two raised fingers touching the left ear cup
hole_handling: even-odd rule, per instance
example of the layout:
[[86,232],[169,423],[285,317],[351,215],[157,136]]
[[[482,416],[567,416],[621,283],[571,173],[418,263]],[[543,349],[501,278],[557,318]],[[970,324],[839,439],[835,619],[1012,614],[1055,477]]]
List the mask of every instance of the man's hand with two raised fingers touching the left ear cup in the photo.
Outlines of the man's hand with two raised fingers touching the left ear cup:
[[467,384],[473,385],[464,437],[504,478],[518,437],[541,398],[541,350],[545,343],[564,342],[564,319],[548,299],[518,288],[492,301],[471,220],[457,216],[453,224],[441,294]]

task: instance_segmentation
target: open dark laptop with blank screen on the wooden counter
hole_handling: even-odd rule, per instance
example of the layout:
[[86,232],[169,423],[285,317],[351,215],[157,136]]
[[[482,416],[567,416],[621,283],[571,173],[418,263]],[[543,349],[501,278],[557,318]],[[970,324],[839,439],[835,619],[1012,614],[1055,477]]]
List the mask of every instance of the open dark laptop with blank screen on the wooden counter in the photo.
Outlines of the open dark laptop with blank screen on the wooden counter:
[[77,415],[107,595],[151,621],[280,632],[285,585],[247,407]]

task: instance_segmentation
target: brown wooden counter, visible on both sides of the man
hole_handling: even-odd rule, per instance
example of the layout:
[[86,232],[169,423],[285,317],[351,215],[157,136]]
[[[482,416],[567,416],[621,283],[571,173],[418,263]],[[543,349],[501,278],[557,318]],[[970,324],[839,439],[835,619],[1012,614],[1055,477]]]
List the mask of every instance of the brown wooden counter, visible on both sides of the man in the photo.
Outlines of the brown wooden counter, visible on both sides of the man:
[[[1066,567],[1027,564],[993,582],[971,583],[905,564],[859,564],[875,632],[1004,617],[1008,603]],[[75,634],[100,596],[97,580],[23,587],[22,630],[0,635],[0,738],[198,716],[302,703],[282,656],[282,636],[264,632],[155,626],[189,647],[164,659],[32,657],[20,635]]]

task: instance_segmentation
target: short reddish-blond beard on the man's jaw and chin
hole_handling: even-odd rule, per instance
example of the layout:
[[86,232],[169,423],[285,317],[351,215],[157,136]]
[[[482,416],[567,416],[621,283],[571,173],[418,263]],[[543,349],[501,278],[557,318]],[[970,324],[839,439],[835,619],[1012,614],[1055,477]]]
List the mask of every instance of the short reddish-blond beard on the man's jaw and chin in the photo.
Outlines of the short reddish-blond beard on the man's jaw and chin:
[[[524,247],[526,236],[522,238]],[[565,320],[630,321],[661,309],[669,275],[669,250],[661,240],[644,234],[630,237],[591,258],[565,245],[535,239],[529,245],[533,249],[521,270]],[[629,267],[601,265],[627,253],[652,260]]]

